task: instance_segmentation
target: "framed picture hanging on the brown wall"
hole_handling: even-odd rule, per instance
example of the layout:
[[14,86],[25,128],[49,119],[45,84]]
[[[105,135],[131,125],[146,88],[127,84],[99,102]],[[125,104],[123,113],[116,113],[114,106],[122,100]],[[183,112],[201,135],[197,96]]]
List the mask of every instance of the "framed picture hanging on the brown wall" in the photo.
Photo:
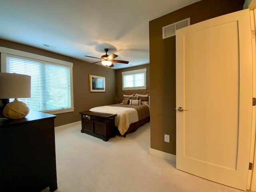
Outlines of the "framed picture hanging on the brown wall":
[[105,77],[89,74],[90,92],[106,92]]

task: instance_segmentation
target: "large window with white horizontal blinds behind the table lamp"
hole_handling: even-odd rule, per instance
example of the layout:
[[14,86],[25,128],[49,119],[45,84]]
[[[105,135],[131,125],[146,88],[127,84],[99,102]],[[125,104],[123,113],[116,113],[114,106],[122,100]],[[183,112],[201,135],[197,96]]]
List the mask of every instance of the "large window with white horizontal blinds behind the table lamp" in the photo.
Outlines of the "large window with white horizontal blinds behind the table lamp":
[[[7,73],[31,76],[31,98],[18,100],[30,110],[58,114],[74,111],[72,65],[57,64],[17,55],[3,54]],[[34,55],[34,54],[33,54]],[[58,62],[61,62],[58,60]],[[10,99],[10,102],[13,99]]]

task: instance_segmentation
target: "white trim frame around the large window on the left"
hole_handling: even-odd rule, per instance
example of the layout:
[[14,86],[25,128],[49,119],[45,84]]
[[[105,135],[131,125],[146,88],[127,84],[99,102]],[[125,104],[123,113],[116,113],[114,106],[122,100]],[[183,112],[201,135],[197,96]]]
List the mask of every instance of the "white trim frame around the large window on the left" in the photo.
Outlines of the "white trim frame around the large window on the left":
[[74,111],[73,63],[72,62],[58,60],[58,59],[54,59],[54,58],[50,58],[50,57],[46,57],[38,54],[33,54],[33,53],[24,52],[20,50],[14,50],[14,49],[5,48],[5,47],[0,47],[0,53],[1,53],[1,72],[6,72],[6,57],[22,58],[22,59],[32,60],[32,61],[39,60],[40,62],[45,62],[46,64],[68,67],[70,70],[70,102],[71,102],[70,108],[58,109],[58,110],[47,110],[42,112],[45,112],[48,114],[60,114],[60,113]]

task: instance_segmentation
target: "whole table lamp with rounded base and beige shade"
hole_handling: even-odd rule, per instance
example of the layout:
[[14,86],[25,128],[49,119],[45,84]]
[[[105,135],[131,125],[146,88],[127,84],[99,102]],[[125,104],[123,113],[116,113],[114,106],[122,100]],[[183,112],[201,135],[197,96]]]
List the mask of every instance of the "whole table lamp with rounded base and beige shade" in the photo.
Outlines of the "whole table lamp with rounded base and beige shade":
[[29,113],[29,108],[17,98],[30,98],[31,76],[16,73],[0,73],[0,99],[14,98],[13,102],[3,102],[2,114],[8,119],[21,119]]

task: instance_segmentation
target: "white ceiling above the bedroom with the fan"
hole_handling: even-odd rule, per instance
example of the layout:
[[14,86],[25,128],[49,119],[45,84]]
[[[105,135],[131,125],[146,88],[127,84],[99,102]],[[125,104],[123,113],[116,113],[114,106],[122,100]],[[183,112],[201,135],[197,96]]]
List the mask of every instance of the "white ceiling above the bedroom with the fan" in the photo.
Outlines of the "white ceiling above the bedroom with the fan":
[[148,64],[149,21],[198,1],[0,0],[0,38],[88,62],[109,48],[129,61],[112,69]]

